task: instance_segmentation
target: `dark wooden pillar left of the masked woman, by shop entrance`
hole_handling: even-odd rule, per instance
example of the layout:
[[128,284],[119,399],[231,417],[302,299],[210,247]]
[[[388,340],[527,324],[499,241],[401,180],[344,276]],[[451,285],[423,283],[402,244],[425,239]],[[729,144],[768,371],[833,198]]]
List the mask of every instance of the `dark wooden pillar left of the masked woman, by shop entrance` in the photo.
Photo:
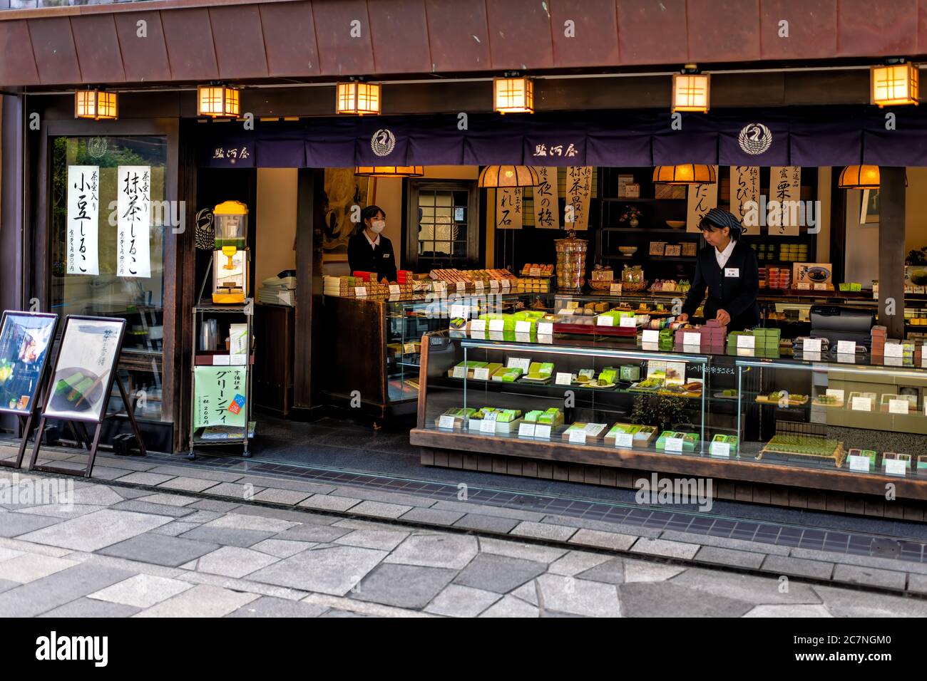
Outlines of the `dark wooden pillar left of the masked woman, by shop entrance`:
[[293,372],[293,417],[321,416],[322,229],[324,170],[299,169],[296,208],[296,366]]

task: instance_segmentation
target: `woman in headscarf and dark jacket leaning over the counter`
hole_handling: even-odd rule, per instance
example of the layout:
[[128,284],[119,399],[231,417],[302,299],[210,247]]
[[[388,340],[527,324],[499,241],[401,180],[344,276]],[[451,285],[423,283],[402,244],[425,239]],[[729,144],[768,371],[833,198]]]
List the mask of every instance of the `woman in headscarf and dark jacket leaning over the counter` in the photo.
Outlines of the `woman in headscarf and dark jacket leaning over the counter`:
[[695,261],[695,278],[678,322],[686,322],[705,291],[705,319],[717,320],[728,331],[743,331],[759,323],[759,269],[753,248],[741,241],[743,226],[733,214],[712,208],[699,222],[707,246]]

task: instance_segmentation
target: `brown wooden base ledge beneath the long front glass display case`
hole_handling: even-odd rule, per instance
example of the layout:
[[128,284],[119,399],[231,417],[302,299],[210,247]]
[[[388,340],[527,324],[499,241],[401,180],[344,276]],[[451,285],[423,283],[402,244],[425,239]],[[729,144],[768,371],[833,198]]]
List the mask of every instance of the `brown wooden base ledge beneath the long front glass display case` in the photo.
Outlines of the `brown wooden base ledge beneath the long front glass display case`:
[[720,459],[692,453],[665,454],[642,449],[605,448],[576,445],[562,440],[550,442],[493,437],[414,428],[413,445],[450,449],[467,453],[491,454],[529,460],[548,460],[562,464],[583,464],[603,468],[659,471],[671,475],[694,475],[735,482],[804,488],[805,494],[819,490],[865,495],[884,495],[885,483],[895,485],[898,498],[927,500],[927,476],[905,477],[883,473],[854,473],[845,468],[805,468],[763,460]]

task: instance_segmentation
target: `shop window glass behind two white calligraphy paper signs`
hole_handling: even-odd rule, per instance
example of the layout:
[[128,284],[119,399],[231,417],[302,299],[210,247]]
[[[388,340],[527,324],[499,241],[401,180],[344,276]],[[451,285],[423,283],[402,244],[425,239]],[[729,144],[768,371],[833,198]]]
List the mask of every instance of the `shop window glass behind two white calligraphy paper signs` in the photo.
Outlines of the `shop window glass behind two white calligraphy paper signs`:
[[[179,217],[173,215],[165,201],[166,161],[167,139],[163,136],[56,137],[52,141],[52,209],[48,233],[51,309],[62,320],[68,314],[121,317],[126,320],[119,372],[133,399],[136,416],[157,421],[162,417],[164,239],[165,232],[171,229],[170,226],[165,227],[165,224],[170,225]],[[91,180],[92,170],[80,176],[75,172],[69,183],[69,168],[76,166],[98,169],[98,178]],[[147,277],[119,276],[117,273],[120,252],[117,196],[120,190],[127,190],[126,186],[118,186],[121,166],[150,169],[148,178],[145,178],[144,171],[136,175],[140,180],[148,180],[150,191],[147,263],[150,276]],[[98,274],[68,273],[69,185],[75,183],[78,177],[95,182],[97,191]],[[135,193],[130,205],[134,205],[138,197],[139,194]],[[73,195],[71,200],[74,200]],[[71,252],[75,253],[73,246]],[[144,264],[138,261],[139,251],[134,249],[133,252],[134,262],[141,267],[135,267],[132,271],[144,271]],[[63,324],[60,326],[63,327]],[[115,385],[110,405],[112,409],[122,407]],[[170,414],[164,416],[171,418]]]

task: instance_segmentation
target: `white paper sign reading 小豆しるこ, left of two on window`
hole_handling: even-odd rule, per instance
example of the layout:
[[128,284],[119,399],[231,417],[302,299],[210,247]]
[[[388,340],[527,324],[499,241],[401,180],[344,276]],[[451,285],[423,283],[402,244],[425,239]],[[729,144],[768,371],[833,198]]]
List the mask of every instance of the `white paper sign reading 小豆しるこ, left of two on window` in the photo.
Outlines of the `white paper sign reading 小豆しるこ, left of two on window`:
[[68,166],[68,273],[99,274],[99,166]]

